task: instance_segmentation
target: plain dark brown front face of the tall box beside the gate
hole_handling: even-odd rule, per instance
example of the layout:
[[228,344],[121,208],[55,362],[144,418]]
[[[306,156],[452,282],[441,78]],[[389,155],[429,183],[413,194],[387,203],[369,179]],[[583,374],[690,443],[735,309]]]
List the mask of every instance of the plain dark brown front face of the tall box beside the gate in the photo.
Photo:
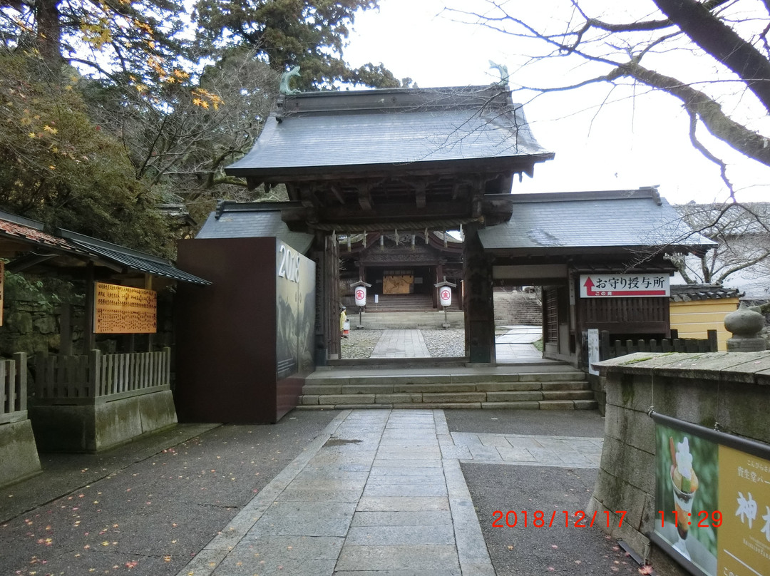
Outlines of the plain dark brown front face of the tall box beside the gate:
[[179,242],[174,397],[183,422],[276,422],[276,239]]

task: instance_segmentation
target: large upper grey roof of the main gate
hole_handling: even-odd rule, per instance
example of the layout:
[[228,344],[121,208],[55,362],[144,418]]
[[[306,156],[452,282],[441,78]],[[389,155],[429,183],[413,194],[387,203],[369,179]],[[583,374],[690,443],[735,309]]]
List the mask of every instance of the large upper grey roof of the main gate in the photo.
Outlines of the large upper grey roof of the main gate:
[[[551,159],[521,105],[498,86],[311,92],[289,96],[253,149],[226,171]],[[403,166],[402,166],[403,168]]]

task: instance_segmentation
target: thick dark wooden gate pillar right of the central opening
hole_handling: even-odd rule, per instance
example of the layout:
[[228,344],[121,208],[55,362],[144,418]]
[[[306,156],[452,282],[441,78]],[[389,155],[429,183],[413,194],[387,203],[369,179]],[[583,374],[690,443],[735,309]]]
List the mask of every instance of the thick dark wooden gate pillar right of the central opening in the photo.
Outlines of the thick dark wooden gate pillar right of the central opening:
[[492,265],[481,246],[479,227],[466,226],[463,244],[465,352],[471,363],[494,363]]

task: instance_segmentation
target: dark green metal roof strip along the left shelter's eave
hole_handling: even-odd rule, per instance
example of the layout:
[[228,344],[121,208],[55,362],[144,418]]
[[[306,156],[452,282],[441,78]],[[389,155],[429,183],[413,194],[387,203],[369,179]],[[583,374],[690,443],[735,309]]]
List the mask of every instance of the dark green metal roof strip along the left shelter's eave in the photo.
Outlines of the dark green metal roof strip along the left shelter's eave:
[[203,278],[179,270],[170,260],[139,252],[138,250],[132,250],[125,246],[104,242],[103,240],[95,239],[91,236],[84,236],[65,229],[59,229],[57,230],[57,233],[71,245],[85,250],[92,256],[99,256],[101,259],[109,260],[109,262],[126,267],[129,270],[137,270],[139,272],[154,274],[155,276],[166,276],[166,278],[193,284],[210,284],[208,280],[203,280]]

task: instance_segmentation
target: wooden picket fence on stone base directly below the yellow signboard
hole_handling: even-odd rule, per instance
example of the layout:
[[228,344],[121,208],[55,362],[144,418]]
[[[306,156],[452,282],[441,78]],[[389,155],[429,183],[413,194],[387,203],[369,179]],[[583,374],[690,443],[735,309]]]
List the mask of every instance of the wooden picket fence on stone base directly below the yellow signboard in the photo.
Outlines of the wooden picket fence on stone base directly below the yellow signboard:
[[83,356],[35,356],[35,401],[81,404],[102,398],[115,400],[168,388],[171,349],[160,352]]

